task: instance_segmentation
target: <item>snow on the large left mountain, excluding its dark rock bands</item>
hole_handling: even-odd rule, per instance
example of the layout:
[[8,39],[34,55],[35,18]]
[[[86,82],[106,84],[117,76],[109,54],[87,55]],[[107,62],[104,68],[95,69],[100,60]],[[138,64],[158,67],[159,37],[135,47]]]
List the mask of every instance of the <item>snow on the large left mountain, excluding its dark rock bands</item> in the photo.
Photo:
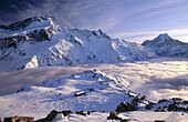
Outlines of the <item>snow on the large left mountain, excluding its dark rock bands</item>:
[[[10,69],[18,70],[44,65],[132,62],[156,57],[150,49],[134,42],[111,39],[102,30],[90,31],[67,28],[59,30],[60,26],[51,18],[40,22],[34,21],[17,33],[21,34],[28,30],[51,27],[56,28],[52,31],[50,41],[21,41],[15,49],[3,49],[2,55],[0,54],[1,59],[9,62]],[[3,32],[0,31],[0,33]]]

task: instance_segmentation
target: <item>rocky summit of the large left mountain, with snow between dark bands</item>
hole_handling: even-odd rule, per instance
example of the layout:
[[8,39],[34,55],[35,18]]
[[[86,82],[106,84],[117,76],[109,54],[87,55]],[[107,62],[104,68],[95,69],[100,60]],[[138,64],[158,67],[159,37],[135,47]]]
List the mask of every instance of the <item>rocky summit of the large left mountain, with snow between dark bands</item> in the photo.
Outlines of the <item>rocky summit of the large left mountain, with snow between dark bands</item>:
[[[32,28],[33,23],[38,27]],[[4,31],[11,33],[0,38],[0,48],[4,49],[17,48],[19,42],[24,41],[31,41],[31,43],[32,41],[50,41],[53,35],[52,33],[60,30],[60,26],[56,24],[55,18],[46,14],[43,17],[28,18],[23,21],[11,23],[10,26],[0,26],[0,29],[2,33]]]

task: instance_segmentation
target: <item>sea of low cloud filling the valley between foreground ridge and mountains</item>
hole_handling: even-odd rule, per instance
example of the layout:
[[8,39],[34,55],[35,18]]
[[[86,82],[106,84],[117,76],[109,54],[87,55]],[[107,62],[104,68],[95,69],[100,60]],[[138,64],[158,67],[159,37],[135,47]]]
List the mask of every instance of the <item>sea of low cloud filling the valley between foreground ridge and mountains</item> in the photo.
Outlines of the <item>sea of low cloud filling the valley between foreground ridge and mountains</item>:
[[150,61],[117,64],[80,64],[77,67],[44,67],[24,71],[6,71],[0,63],[0,94],[15,92],[49,79],[69,77],[85,70],[97,69],[114,77],[123,77],[130,90],[149,100],[181,98],[188,100],[188,58],[159,58]]

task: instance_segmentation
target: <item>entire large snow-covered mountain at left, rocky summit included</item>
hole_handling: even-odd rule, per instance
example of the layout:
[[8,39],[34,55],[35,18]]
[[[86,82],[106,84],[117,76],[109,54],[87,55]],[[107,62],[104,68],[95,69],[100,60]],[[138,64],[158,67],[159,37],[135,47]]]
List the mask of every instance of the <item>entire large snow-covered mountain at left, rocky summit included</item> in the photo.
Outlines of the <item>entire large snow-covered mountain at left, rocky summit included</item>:
[[60,28],[51,16],[0,27],[0,57],[10,69],[147,60],[156,54],[134,42],[111,39],[102,30]]

